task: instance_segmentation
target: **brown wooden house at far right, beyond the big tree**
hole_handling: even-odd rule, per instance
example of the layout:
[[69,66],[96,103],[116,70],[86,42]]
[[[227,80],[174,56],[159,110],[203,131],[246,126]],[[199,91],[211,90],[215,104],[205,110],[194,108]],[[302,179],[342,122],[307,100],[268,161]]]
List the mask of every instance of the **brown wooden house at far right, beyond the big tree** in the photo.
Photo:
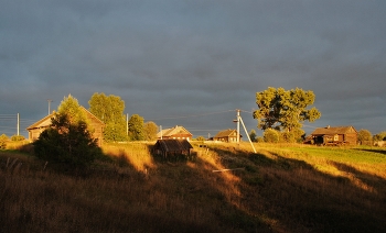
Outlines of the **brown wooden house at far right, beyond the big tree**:
[[357,132],[353,126],[318,127],[311,133],[311,141],[319,145],[356,145]]

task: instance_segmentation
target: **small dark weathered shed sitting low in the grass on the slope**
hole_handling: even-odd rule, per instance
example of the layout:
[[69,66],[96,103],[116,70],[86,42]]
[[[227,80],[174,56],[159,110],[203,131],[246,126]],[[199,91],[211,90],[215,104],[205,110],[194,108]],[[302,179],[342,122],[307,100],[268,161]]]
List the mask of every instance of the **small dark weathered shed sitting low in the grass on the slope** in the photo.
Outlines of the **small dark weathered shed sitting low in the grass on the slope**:
[[167,157],[169,154],[185,154],[190,156],[192,148],[193,146],[187,140],[158,140],[154,144],[154,151],[157,154],[162,154],[163,157]]

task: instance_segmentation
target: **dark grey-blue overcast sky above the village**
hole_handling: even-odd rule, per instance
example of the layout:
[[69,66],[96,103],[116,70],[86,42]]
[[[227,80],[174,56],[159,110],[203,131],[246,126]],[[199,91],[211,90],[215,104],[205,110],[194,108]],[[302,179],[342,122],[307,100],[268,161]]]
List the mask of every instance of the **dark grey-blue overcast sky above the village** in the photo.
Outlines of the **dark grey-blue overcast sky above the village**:
[[[256,92],[312,90],[303,122],[386,131],[384,0],[0,1],[0,134],[20,134],[72,95],[125,101],[193,137],[247,131]],[[47,100],[52,100],[51,104]],[[310,108],[311,108],[310,107]],[[244,130],[242,131],[244,133]]]

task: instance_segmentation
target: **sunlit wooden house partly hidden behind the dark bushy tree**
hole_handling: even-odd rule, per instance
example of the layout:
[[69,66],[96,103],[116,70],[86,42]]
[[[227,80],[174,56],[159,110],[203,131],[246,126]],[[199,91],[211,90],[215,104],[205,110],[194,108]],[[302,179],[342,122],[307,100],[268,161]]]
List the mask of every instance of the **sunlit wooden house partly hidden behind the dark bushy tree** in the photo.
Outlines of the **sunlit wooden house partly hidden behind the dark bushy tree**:
[[[104,127],[105,123],[101,122],[97,116],[95,116],[93,113],[90,113],[87,109],[84,107],[81,107],[82,111],[85,113],[88,123],[90,124],[90,129],[93,129],[93,138],[98,140],[98,145],[100,146],[103,143],[104,137]],[[29,132],[29,140],[30,142],[34,142],[39,138],[40,134],[51,126],[51,119],[54,118],[55,113],[51,113],[40,121],[35,122],[31,126],[26,127]]]

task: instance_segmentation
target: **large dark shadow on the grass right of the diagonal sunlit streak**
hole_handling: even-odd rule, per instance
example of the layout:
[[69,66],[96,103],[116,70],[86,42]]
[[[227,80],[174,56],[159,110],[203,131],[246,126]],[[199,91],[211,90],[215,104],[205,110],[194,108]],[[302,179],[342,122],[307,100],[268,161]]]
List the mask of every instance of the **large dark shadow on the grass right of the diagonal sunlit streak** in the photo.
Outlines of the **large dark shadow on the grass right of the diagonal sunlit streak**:
[[[211,149],[225,158],[221,159],[225,167],[253,167],[234,175],[255,187],[251,190],[259,193],[255,197],[260,202],[256,213],[261,211],[276,219],[279,230],[280,225],[283,231],[301,232],[383,232],[386,229],[386,180],[382,177],[344,163],[330,162],[354,178],[322,173],[304,160],[278,153],[255,154],[234,146]],[[249,188],[240,190],[243,196],[251,196]]]

